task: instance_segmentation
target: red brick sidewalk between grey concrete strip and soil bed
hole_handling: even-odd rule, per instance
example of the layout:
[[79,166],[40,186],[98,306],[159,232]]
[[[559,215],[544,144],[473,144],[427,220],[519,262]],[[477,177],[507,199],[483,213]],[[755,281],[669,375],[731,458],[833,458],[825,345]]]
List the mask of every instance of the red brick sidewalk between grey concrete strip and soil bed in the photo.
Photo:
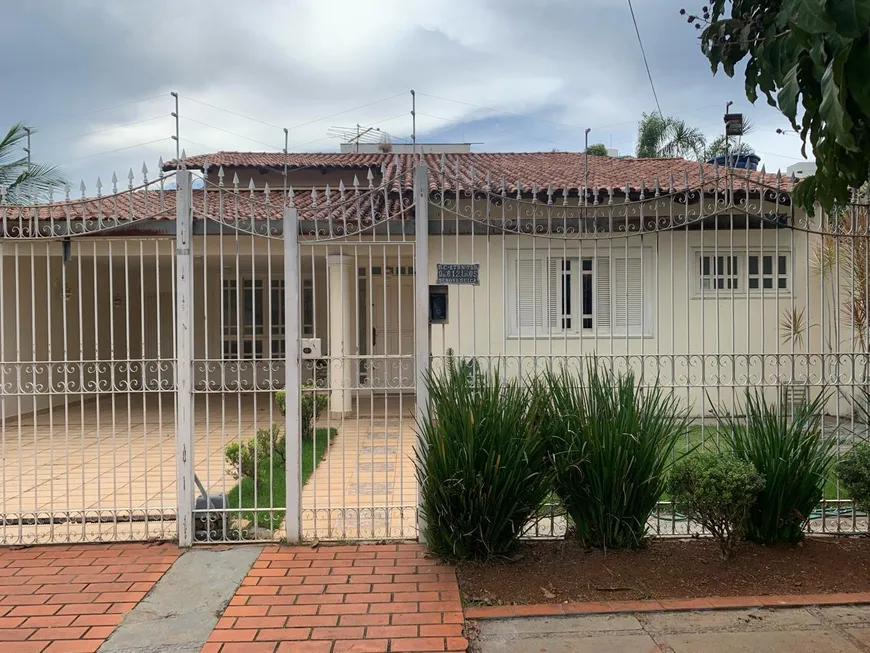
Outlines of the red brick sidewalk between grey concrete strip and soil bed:
[[451,567],[417,544],[266,547],[202,653],[465,651]]

